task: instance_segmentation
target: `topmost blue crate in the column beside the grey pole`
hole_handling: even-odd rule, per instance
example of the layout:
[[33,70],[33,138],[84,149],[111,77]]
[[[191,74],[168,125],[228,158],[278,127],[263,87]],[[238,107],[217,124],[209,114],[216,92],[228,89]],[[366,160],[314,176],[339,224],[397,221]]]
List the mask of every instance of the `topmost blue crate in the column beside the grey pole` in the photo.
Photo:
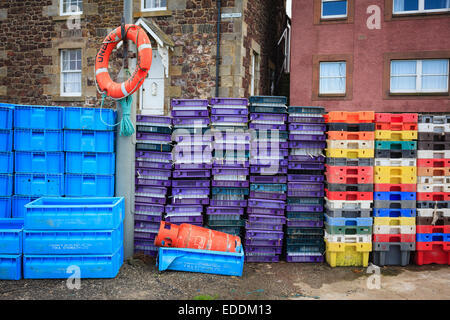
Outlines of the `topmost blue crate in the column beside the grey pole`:
[[66,107],[64,128],[72,130],[111,131],[116,127],[117,113],[111,109]]

